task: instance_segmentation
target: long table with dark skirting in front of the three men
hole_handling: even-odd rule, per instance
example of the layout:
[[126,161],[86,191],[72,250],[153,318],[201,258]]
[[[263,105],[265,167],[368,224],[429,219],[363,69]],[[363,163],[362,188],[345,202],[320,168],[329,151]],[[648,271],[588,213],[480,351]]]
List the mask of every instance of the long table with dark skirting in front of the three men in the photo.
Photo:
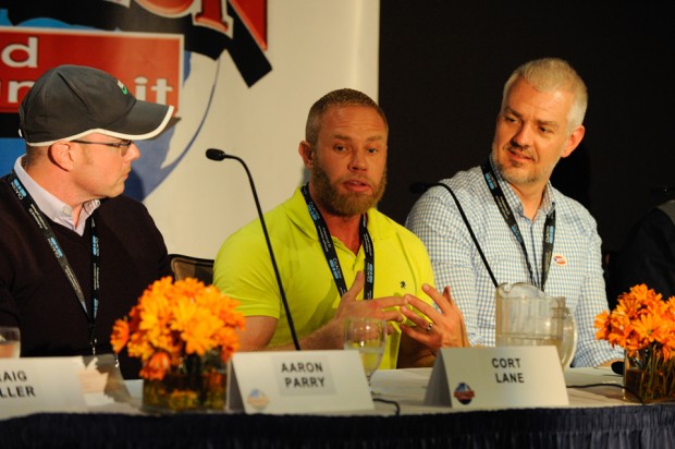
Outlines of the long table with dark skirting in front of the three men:
[[[98,410],[0,421],[0,448],[639,448],[675,447],[675,408],[622,400],[609,369],[572,369],[570,405],[457,412],[422,404],[430,369],[379,372],[373,388],[400,402],[351,415],[180,414]],[[138,400],[138,384],[130,383]]]

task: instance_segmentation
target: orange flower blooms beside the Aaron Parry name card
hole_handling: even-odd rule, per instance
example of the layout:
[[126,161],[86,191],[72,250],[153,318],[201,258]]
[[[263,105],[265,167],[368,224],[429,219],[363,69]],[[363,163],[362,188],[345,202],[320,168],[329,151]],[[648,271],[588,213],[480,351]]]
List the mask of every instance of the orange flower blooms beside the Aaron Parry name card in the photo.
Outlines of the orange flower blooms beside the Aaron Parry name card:
[[140,377],[161,380],[184,359],[219,351],[226,363],[238,349],[235,329],[244,328],[238,303],[213,286],[196,279],[154,282],[124,319],[118,319],[110,341],[115,352],[126,345],[128,355],[143,362]]

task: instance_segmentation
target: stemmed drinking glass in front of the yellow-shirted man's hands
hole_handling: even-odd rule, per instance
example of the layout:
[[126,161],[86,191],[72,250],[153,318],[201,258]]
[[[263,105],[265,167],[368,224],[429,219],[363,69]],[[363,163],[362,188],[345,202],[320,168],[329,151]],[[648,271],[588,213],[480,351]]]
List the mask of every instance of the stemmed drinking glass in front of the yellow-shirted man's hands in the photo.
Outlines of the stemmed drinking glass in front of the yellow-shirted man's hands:
[[386,321],[376,318],[347,319],[344,349],[358,350],[370,386],[372,374],[380,366],[386,345]]

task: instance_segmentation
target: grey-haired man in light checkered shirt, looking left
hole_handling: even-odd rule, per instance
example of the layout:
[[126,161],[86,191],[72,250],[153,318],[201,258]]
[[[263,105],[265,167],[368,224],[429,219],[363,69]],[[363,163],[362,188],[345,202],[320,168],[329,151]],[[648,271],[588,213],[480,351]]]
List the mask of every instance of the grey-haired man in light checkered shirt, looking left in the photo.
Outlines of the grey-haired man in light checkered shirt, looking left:
[[451,287],[474,345],[494,345],[495,282],[529,282],[565,296],[578,330],[573,366],[623,357],[594,338],[594,318],[608,307],[596,221],[549,181],[584,138],[587,100],[567,62],[521,65],[504,86],[488,160],[441,181],[457,196],[493,275],[446,189],[430,189],[407,218],[427,245],[437,287]]

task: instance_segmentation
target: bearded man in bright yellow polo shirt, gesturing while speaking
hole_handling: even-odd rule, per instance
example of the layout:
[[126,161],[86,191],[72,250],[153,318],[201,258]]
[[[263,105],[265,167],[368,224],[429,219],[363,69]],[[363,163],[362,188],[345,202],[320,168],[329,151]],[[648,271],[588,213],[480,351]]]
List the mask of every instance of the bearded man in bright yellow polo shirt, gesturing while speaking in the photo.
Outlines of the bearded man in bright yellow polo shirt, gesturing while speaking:
[[[320,98],[299,144],[309,182],[265,221],[302,349],[340,349],[345,320],[370,316],[392,323],[382,368],[428,366],[439,348],[467,340],[449,289],[431,287],[424,244],[375,209],[386,184],[386,118],[367,95]],[[223,243],[213,283],[241,302],[242,350],[294,348],[259,220]]]

